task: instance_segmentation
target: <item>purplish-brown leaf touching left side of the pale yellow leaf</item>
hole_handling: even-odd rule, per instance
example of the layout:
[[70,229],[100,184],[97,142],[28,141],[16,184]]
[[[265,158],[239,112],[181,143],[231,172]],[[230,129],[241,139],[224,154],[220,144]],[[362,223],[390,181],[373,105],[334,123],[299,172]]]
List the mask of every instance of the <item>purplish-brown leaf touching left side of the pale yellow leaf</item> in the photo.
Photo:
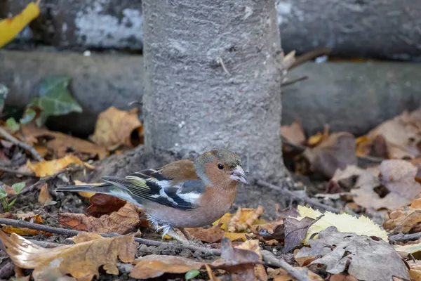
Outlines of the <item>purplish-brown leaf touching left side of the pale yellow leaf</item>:
[[319,218],[302,218],[300,221],[295,218],[285,218],[284,220],[284,231],[285,231],[285,242],[282,252],[288,253],[288,251],[294,249],[302,240],[307,236],[307,231]]

